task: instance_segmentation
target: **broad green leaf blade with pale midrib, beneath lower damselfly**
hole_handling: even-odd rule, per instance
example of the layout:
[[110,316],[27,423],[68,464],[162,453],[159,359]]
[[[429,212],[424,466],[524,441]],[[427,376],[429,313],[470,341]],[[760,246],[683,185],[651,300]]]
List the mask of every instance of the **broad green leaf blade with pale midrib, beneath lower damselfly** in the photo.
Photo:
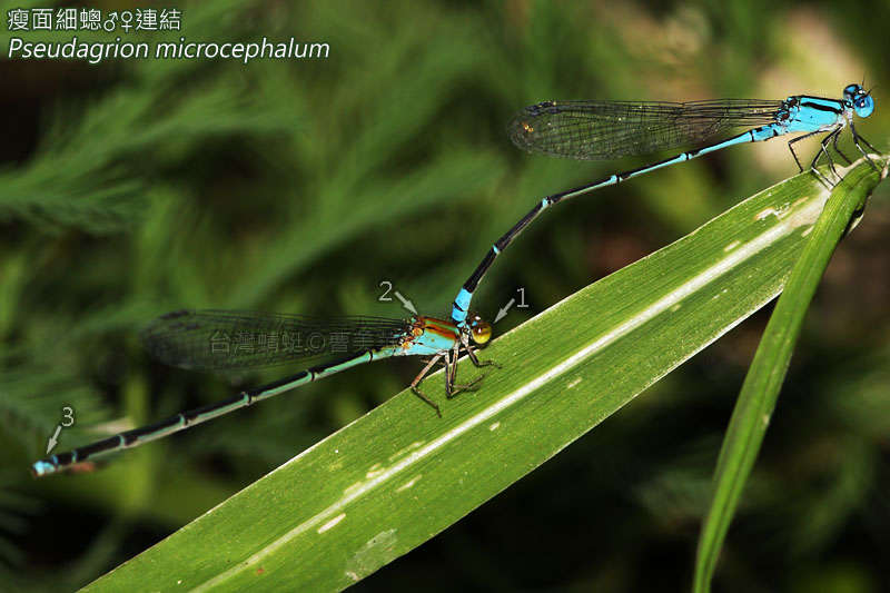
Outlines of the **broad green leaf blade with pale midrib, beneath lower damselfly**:
[[[408,391],[305,451],[88,591],[344,589],[543,464],[778,295],[829,192],[810,175],[497,339],[443,418]],[[462,364],[459,378],[477,370]],[[609,452],[603,452],[609,455]],[[72,477],[77,480],[77,477]]]

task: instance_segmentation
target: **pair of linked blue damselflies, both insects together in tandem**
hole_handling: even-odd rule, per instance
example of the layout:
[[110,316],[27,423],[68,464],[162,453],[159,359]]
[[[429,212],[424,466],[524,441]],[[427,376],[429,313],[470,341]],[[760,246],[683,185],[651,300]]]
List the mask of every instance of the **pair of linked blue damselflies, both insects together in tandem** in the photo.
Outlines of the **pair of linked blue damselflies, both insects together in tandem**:
[[239,369],[305,362],[336,353],[340,357],[229,399],[52,455],[36,462],[32,472],[37,476],[52,474],[97,454],[161,438],[353,366],[394,356],[429,357],[411,388],[441,415],[438,405],[421,391],[421,382],[437,364],[442,364],[445,367],[446,395],[451,397],[462,389],[472,388],[482,378],[467,385],[456,383],[457,359],[462,352],[476,366],[493,364],[481,362],[475,354],[476,346],[490,340],[492,328],[479,316],[468,314],[471,300],[495,258],[544,209],[564,199],[617,185],[722,148],[792,134],[800,135],[788,145],[801,170],[803,167],[793,145],[814,135],[824,135],[810,170],[822,182],[831,185],[817,165],[824,158],[829,171],[837,176],[830,148],[850,162],[837,146],[838,136],[846,127],[850,128],[857,149],[869,159],[860,142],[871,150],[876,149],[859,136],[853,117],[869,117],[873,109],[874,101],[861,85],[846,87],[841,99],[799,95],[777,101],[545,101],[528,107],[510,125],[513,142],[531,152],[575,159],[612,159],[649,154],[702,142],[733,128],[744,127],[746,130],[703,148],[543,198],[493,245],[463,284],[453,302],[452,317],[447,320],[428,316],[409,319],[317,319],[298,315],[222,310],[182,310],[161,316],[149,325],[142,336],[148,350],[172,366],[205,370]]

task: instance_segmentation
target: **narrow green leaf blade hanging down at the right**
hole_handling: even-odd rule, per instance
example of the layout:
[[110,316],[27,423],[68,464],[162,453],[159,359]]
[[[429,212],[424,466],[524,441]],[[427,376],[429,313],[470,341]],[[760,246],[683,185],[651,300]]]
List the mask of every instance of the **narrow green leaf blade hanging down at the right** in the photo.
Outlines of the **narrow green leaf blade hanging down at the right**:
[[696,592],[711,589],[720,547],[767,434],[807,308],[851,217],[861,214],[880,180],[864,160],[851,169],[831,192],[813,227],[739,394],[714,472],[713,501],[699,540],[693,587]]

